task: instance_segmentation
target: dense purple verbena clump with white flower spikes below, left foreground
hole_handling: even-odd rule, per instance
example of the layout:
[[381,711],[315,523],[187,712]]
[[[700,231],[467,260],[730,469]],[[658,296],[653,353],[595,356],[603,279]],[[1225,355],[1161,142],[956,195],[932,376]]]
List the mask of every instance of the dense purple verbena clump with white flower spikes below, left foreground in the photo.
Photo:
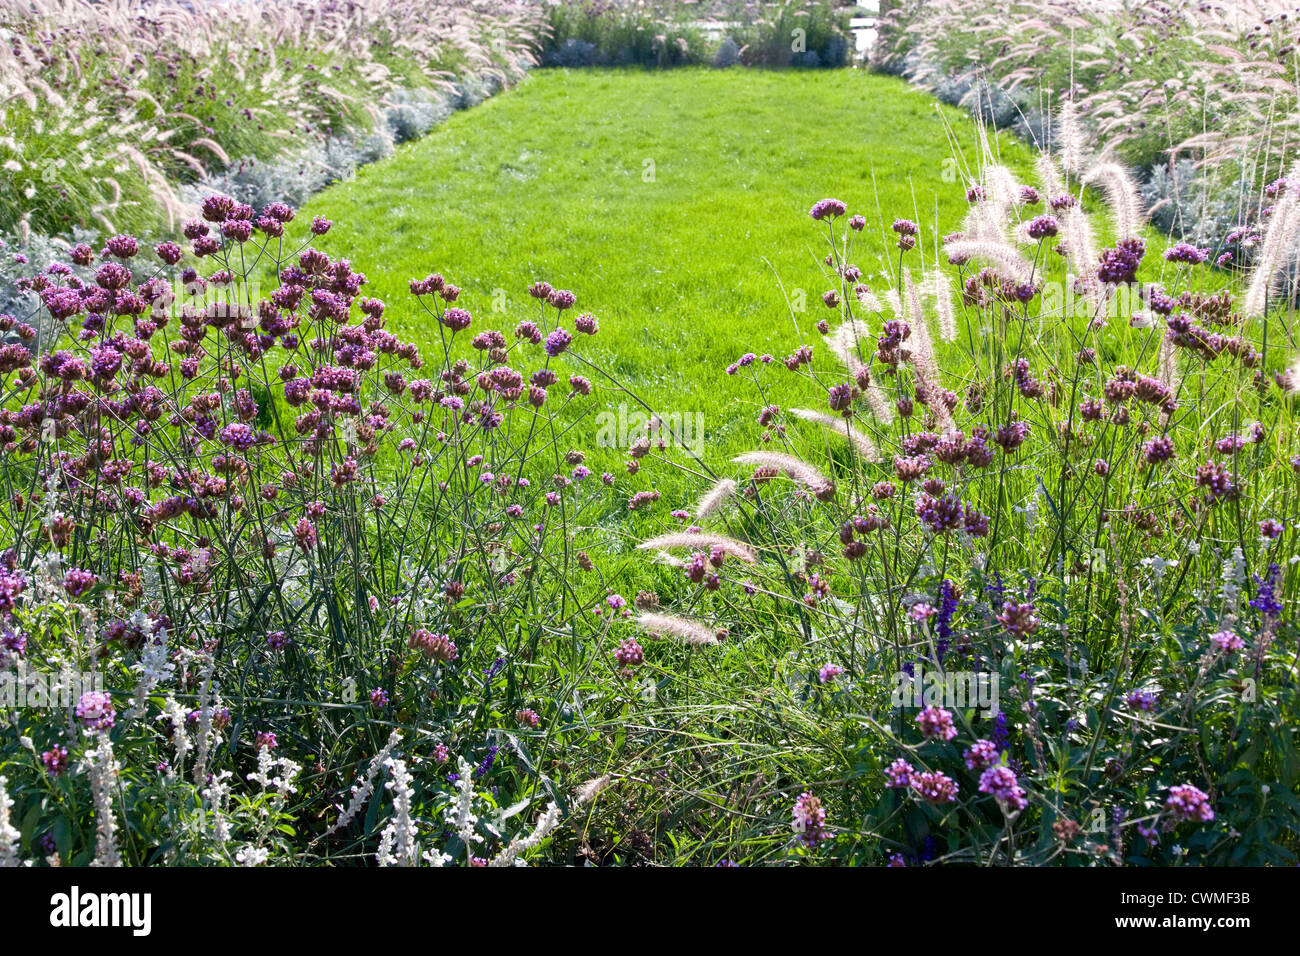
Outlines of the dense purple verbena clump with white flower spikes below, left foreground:
[[31,276],[39,354],[0,317],[4,861],[502,865],[571,809],[529,753],[621,605],[576,550],[614,484],[568,445],[576,297],[500,332],[412,280],[421,355],[294,220],[209,196],[188,248]]

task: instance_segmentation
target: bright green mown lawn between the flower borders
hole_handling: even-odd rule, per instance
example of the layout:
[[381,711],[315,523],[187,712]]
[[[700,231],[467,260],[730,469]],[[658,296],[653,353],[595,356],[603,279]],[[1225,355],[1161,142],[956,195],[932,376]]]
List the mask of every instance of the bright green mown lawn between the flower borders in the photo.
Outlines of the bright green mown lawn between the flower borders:
[[[536,317],[532,281],[572,289],[575,312],[601,323],[595,339],[576,345],[656,410],[703,412],[718,462],[754,434],[751,393],[727,364],[745,351],[783,358],[800,343],[781,284],[806,295],[803,337],[816,339],[812,326],[828,315],[824,233],[809,207],[836,196],[867,217],[859,248],[871,259],[857,264],[868,277],[883,269],[880,235],[900,216],[922,224],[933,261],[936,237],[966,209],[949,130],[975,165],[968,117],[854,70],[540,70],[328,190],[307,213],[338,222],[322,247],[348,255],[390,303],[391,328],[416,341],[436,332],[410,303],[411,277],[442,272],[464,289],[459,304],[476,329],[507,334]],[[1027,168],[1023,146],[998,148]],[[494,315],[498,289],[504,312]],[[784,369],[771,380],[777,403],[824,398]],[[576,436],[588,451],[594,438],[594,429]],[[595,458],[611,470],[618,460]],[[685,503],[662,470],[640,477],[670,507]]]

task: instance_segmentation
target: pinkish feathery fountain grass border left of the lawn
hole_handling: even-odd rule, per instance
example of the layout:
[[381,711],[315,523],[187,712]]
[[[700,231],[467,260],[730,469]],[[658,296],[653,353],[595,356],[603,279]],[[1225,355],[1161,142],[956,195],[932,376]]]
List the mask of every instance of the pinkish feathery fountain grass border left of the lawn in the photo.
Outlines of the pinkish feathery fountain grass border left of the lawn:
[[355,138],[395,91],[517,79],[541,17],[511,0],[4,0],[0,230],[174,228],[183,183]]

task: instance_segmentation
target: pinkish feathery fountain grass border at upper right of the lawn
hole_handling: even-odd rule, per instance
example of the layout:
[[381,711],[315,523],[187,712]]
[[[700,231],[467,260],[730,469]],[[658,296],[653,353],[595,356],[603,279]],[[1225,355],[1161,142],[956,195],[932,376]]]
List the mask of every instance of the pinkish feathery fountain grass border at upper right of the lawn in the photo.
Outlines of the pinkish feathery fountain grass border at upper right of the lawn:
[[1300,133],[1291,13],[1280,0],[902,3],[874,62],[1040,148],[1061,147],[1052,116],[1070,103],[1143,172],[1162,228],[1217,245],[1283,174]]

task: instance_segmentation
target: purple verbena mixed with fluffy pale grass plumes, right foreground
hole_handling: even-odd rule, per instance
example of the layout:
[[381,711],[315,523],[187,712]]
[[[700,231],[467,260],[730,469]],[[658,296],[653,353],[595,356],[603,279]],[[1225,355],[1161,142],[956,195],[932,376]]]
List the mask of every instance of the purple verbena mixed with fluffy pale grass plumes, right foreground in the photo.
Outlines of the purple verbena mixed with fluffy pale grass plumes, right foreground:
[[[1118,166],[1036,178],[987,164],[961,232],[900,217],[879,259],[818,202],[823,342],[792,308],[803,345],[725,369],[755,450],[644,542],[680,570],[638,619],[725,636],[638,744],[724,834],[701,858],[1296,858],[1294,313],[1148,247]],[[789,375],[815,405],[772,403]]]

